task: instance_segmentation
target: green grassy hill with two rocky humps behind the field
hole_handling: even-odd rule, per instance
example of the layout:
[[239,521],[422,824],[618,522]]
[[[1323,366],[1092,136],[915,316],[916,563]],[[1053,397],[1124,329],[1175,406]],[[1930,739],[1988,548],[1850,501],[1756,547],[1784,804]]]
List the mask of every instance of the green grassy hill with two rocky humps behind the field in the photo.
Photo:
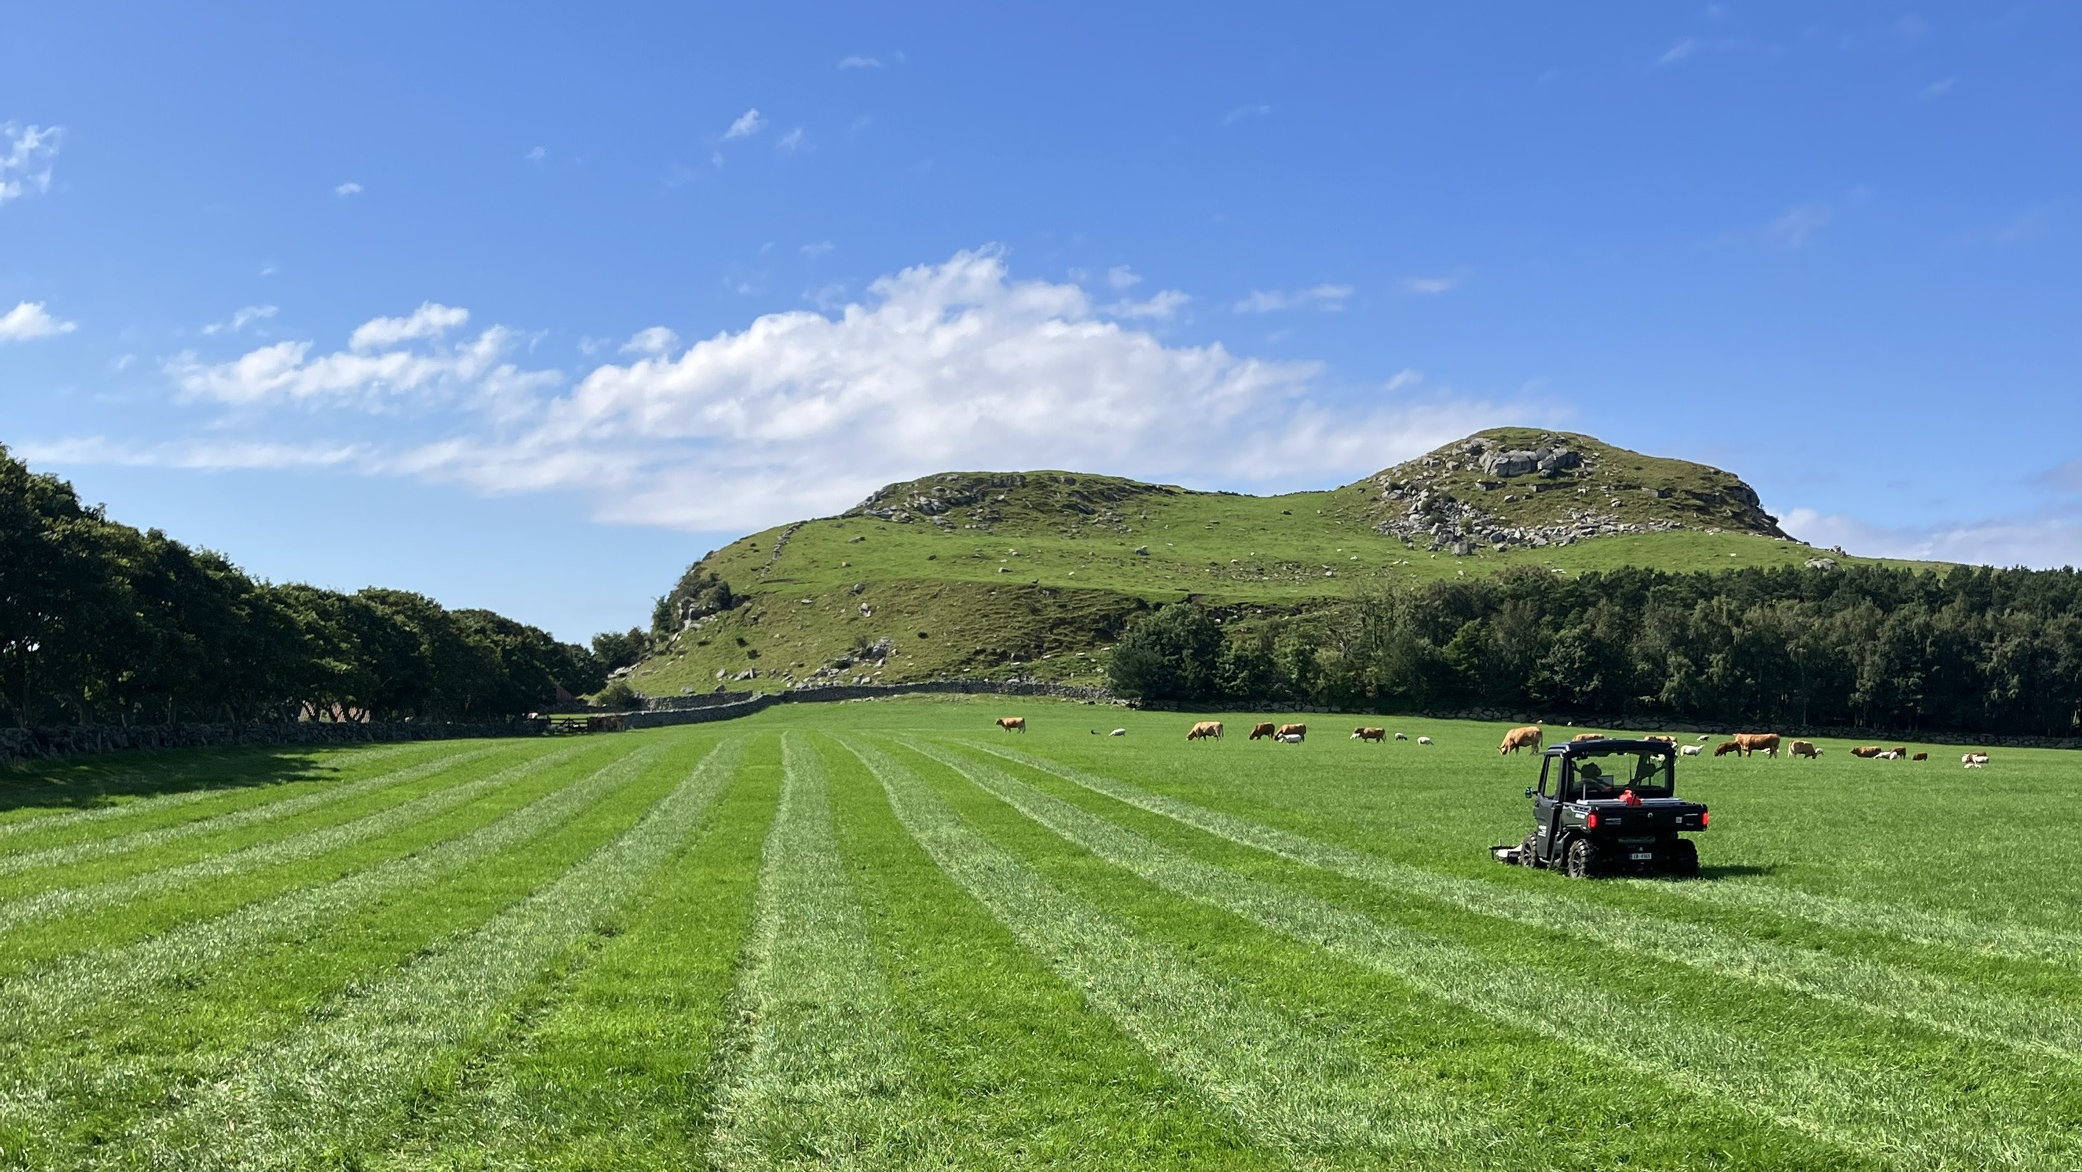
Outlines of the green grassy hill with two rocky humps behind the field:
[[631,683],[677,695],[862,674],[1093,681],[1128,618],[1189,597],[1276,614],[1512,566],[1816,556],[1730,473],[1559,431],[1482,431],[1339,489],[1264,498],[1060,470],[941,473],[700,560],[687,581],[729,583],[735,606],[695,604],[683,581],[681,631]]

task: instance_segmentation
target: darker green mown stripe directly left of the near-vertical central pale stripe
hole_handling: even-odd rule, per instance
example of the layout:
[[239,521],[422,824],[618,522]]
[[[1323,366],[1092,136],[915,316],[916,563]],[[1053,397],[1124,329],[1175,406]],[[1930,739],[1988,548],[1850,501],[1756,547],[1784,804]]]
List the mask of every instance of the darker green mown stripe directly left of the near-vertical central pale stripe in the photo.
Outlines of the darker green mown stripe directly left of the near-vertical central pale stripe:
[[618,916],[627,928],[510,1037],[435,1074],[377,1168],[610,1168],[689,1164],[708,1137],[714,1047],[752,931],[781,745],[754,739],[695,845]]

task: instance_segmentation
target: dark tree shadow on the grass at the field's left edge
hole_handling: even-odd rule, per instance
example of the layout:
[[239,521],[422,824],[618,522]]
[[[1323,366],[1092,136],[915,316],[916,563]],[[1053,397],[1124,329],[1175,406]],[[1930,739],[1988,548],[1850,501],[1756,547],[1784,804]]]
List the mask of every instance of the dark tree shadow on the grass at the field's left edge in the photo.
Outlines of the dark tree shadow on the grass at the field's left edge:
[[246,745],[129,749],[0,766],[0,816],[17,810],[92,810],[194,789],[254,789],[333,776],[325,749]]

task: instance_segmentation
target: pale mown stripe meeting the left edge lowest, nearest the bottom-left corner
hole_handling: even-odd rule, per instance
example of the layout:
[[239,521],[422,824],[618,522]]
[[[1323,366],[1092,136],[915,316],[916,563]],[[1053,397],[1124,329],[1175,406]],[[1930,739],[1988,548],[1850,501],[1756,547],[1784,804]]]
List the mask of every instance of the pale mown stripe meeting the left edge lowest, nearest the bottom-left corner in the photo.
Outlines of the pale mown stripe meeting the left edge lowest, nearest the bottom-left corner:
[[117,997],[150,1001],[156,989],[187,987],[264,945],[294,943],[362,903],[437,883],[473,862],[512,849],[575,818],[635,781],[650,756],[629,754],[527,806],[425,849],[321,883],[296,887],[223,916],[106,949],[67,956],[0,983],[0,1037],[23,1041],[69,1028],[69,1018]]

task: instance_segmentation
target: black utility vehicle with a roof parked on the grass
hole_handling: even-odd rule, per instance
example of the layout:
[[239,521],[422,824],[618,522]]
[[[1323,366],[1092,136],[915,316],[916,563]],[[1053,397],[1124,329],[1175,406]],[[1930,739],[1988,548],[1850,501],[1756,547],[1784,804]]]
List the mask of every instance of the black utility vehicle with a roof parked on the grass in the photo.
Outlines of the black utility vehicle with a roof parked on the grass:
[[1678,831],[1705,831],[1707,812],[1676,797],[1678,747],[1668,741],[1570,741],[1541,754],[1528,787],[1532,833],[1489,847],[1497,862],[1599,874],[1699,874],[1699,847]]

